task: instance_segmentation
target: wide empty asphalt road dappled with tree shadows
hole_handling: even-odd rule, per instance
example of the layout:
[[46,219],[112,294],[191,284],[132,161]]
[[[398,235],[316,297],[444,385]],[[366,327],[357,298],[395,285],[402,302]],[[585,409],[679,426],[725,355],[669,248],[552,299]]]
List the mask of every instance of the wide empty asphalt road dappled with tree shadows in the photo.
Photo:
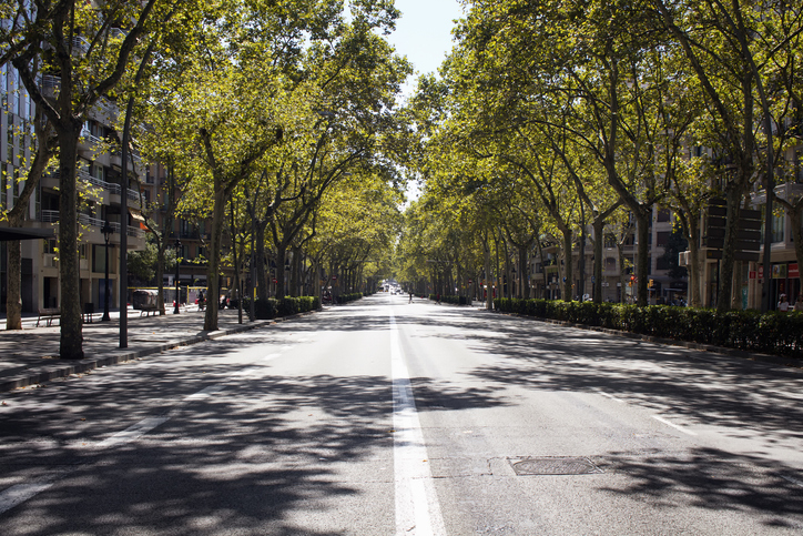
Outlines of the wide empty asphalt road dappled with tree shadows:
[[803,534],[800,371],[407,301],[4,394],[0,534]]

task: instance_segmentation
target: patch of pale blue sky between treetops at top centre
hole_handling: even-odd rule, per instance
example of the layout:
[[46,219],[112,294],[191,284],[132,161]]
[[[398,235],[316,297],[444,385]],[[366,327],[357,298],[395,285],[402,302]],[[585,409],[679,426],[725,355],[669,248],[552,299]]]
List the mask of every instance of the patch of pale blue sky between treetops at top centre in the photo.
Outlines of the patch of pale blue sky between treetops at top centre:
[[[396,0],[402,18],[388,40],[400,55],[406,55],[419,74],[436,72],[451,51],[451,28],[463,17],[457,0]],[[408,91],[415,87],[410,80]]]

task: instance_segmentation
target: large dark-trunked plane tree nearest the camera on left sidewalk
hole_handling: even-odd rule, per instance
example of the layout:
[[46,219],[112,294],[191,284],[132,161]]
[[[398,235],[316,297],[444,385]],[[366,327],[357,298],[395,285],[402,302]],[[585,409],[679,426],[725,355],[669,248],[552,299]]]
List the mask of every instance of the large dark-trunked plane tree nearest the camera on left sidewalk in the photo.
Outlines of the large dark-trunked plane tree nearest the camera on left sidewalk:
[[[142,38],[175,13],[169,0],[6,2],[0,65],[12,64],[59,146],[59,276],[62,358],[83,357],[78,271],[78,143],[89,111],[113,93],[142,52]],[[182,3],[192,9],[192,2]],[[139,52],[138,52],[139,50]],[[38,74],[50,77],[42,84]]]

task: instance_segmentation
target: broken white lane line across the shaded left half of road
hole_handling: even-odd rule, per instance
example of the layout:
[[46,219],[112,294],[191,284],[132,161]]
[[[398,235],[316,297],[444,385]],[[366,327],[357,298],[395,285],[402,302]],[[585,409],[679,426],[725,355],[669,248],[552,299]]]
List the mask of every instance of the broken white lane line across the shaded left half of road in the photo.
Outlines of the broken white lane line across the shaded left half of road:
[[[196,401],[205,398],[214,393],[223,391],[223,385],[210,385],[209,387],[203,388],[197,393],[193,393],[184,397],[184,401]],[[106,437],[102,442],[98,443],[95,447],[108,448],[116,445],[122,445],[123,443],[129,443],[134,439],[139,439],[140,437],[148,434],[150,431],[152,431],[160,424],[165,423],[169,419],[169,415],[143,418],[133,426],[129,426],[124,431],[119,432],[111,437]],[[14,506],[34,497],[35,495],[44,492],[53,484],[55,484],[57,481],[60,481],[70,473],[77,471],[79,467],[81,467],[81,465],[74,465],[62,471],[53,472],[50,475],[39,478],[37,482],[16,484],[11,487],[3,489],[2,492],[0,492],[0,515],[10,510]]]

